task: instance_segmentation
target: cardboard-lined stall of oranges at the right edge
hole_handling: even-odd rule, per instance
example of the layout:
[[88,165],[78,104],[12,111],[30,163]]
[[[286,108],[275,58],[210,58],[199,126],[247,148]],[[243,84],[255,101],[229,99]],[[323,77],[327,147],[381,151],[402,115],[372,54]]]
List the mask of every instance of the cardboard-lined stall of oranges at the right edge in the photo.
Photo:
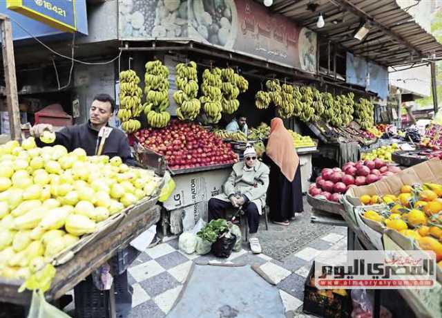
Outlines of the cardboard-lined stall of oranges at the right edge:
[[342,216],[365,249],[434,252],[434,288],[398,290],[416,317],[440,317],[442,312],[441,172],[442,161],[433,158],[354,187],[343,198]]

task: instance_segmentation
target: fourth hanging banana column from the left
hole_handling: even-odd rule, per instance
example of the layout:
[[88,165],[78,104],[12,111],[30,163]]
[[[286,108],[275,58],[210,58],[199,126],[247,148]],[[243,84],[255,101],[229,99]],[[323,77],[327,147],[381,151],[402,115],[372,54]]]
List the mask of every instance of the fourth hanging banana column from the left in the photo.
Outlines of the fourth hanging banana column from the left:
[[212,70],[205,69],[202,73],[200,103],[204,109],[204,124],[216,124],[221,119],[222,112],[222,71],[216,67]]

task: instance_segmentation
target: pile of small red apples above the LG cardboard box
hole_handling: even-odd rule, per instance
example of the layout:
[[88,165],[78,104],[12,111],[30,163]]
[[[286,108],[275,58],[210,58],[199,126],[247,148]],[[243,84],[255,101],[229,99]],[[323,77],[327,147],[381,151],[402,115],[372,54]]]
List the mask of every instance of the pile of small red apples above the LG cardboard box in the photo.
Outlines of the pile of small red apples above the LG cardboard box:
[[198,124],[171,121],[162,129],[135,133],[142,146],[160,153],[172,170],[224,165],[238,161],[231,144],[224,143]]

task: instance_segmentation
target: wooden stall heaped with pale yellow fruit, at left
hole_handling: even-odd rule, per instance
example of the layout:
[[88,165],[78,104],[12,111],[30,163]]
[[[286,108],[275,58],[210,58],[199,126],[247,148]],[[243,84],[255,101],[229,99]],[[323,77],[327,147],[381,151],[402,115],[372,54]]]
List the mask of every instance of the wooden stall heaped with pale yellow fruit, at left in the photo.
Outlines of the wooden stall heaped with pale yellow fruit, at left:
[[38,148],[34,138],[6,142],[0,153],[0,301],[9,303],[29,305],[30,292],[18,288],[47,271],[46,298],[61,297],[155,224],[155,204],[173,187],[169,174],[83,149]]

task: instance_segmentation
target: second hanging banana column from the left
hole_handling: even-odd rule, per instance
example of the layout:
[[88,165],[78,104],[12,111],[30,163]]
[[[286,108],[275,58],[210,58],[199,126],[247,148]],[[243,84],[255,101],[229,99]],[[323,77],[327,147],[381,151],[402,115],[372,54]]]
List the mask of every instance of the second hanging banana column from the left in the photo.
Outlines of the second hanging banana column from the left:
[[146,103],[142,111],[146,115],[149,126],[154,128],[166,127],[171,120],[171,114],[166,111],[169,107],[169,68],[161,61],[150,61],[146,65],[144,75],[144,94]]

